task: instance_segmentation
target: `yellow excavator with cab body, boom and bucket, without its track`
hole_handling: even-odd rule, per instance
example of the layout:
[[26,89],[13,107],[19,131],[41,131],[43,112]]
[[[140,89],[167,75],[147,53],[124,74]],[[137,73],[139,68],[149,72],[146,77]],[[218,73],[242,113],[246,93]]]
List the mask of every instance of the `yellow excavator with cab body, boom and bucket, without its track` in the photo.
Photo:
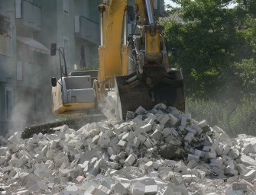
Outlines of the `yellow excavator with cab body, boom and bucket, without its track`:
[[[154,17],[154,2],[134,0],[134,5],[140,33],[128,36],[127,1],[102,1],[99,71],[75,71],[68,75],[63,58],[60,79],[52,78],[53,113],[90,114],[102,110],[100,105],[105,107],[107,103],[119,119],[139,106],[151,109],[158,103],[185,110],[183,75],[180,69],[169,68],[163,27]],[[53,44],[51,54],[56,50],[61,60],[64,50]],[[132,72],[128,72],[128,67],[133,67]]]

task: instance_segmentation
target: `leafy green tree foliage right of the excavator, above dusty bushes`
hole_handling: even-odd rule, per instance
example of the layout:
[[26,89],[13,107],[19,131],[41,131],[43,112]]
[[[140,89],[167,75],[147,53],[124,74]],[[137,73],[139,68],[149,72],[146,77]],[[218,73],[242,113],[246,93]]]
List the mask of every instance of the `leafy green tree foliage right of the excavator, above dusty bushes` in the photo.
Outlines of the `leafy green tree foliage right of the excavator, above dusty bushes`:
[[[256,12],[254,0],[173,0],[183,22],[163,20],[173,67],[182,68],[186,93],[237,98],[254,89]],[[234,8],[228,5],[236,3]],[[237,94],[234,96],[234,94]]]

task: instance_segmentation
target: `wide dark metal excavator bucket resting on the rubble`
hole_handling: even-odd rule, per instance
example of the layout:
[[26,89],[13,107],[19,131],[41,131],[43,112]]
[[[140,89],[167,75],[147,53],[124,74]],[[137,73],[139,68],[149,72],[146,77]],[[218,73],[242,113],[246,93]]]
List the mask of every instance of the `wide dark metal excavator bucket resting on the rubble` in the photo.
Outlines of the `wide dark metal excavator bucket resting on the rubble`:
[[[172,69],[157,79],[157,85],[149,87],[147,78],[139,78],[136,72],[130,75],[115,76],[118,114],[125,118],[127,111],[134,111],[139,106],[150,110],[155,104],[163,103],[185,111],[185,96],[181,70]],[[121,110],[122,109],[122,110]]]

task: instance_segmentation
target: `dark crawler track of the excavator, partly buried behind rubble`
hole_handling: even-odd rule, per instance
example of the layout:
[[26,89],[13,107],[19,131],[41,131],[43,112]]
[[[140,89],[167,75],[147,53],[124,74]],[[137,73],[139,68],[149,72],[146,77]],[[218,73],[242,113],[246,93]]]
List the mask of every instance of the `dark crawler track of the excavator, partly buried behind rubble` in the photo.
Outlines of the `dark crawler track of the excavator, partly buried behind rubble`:
[[83,115],[80,117],[72,117],[67,120],[54,121],[50,123],[41,123],[33,126],[28,126],[21,133],[22,139],[31,138],[34,134],[38,133],[54,133],[57,129],[54,129],[58,126],[67,125],[72,127],[73,129],[80,128],[86,123],[99,122],[101,120],[106,120],[107,118],[103,114],[90,114]]

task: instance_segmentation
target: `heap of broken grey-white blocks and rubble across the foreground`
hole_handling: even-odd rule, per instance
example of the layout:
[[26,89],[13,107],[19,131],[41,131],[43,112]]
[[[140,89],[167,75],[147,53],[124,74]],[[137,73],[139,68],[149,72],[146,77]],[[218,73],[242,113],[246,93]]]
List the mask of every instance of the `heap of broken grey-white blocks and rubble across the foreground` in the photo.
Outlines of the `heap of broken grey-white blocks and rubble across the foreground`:
[[256,138],[175,107],[55,130],[0,137],[0,194],[256,194]]

